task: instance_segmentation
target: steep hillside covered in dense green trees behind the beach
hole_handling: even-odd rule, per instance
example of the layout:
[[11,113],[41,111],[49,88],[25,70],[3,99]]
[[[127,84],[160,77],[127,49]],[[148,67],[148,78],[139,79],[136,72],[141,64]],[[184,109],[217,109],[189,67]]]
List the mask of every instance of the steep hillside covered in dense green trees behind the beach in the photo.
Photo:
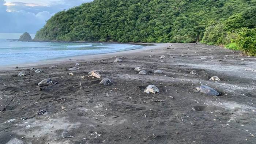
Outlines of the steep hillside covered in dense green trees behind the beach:
[[[196,42],[255,54],[256,0],[94,0],[52,16],[35,40]],[[240,40],[246,37],[244,43]],[[254,43],[254,44],[253,44]],[[252,45],[251,45],[252,44]]]

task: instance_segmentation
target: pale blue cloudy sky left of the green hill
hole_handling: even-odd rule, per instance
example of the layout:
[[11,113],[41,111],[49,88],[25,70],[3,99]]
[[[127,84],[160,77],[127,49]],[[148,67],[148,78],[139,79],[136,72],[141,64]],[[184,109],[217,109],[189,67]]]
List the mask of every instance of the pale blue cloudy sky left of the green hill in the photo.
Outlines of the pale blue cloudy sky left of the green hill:
[[0,0],[0,33],[36,33],[56,12],[93,0]]

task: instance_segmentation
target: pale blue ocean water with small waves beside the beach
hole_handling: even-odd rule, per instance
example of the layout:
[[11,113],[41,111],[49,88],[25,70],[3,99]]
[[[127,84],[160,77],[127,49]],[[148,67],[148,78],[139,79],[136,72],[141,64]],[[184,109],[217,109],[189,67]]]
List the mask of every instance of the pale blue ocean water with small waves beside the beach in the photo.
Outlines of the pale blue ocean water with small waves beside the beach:
[[0,39],[0,66],[141,48],[141,45],[115,43],[19,42]]

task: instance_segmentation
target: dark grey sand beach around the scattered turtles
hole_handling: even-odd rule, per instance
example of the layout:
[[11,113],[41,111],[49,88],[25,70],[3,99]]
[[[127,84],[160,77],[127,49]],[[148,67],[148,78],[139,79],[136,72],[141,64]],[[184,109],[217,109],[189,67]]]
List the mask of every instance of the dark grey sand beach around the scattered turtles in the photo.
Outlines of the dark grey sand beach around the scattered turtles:
[[[169,45],[2,67],[0,143],[255,144],[256,58],[218,46]],[[76,63],[75,76],[68,75]],[[163,73],[154,74],[158,69]],[[88,77],[92,70],[113,84]],[[39,90],[47,78],[57,84]],[[151,84],[159,94],[143,92]],[[201,85],[221,95],[196,92]]]

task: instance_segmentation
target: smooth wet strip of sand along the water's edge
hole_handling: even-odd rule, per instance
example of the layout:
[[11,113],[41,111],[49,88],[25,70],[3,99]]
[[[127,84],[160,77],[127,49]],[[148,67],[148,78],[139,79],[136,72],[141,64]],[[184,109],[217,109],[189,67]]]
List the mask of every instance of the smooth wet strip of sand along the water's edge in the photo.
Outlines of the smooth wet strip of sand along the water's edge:
[[[84,42],[83,42],[84,43]],[[134,43],[122,43],[122,44],[133,44]],[[58,65],[58,64],[69,64],[72,62],[80,62],[80,61],[89,61],[89,60],[100,60],[100,59],[106,59],[110,58],[112,56],[123,56],[123,55],[131,55],[138,53],[142,53],[146,50],[151,49],[161,49],[168,47],[169,45],[175,45],[174,43],[136,43],[136,45],[146,45],[141,49],[134,49],[134,50],[126,50],[126,51],[120,51],[120,52],[113,52],[113,53],[104,53],[104,54],[83,54],[79,56],[68,56],[68,57],[61,57],[61,58],[54,58],[50,60],[42,60],[38,62],[29,62],[27,64],[13,64],[13,65],[3,65],[0,66],[0,71],[5,70],[13,70],[13,69],[24,69],[28,67],[42,67],[42,66],[51,66],[51,65]],[[70,60],[71,59],[71,60]],[[19,68],[15,68],[19,67]]]

